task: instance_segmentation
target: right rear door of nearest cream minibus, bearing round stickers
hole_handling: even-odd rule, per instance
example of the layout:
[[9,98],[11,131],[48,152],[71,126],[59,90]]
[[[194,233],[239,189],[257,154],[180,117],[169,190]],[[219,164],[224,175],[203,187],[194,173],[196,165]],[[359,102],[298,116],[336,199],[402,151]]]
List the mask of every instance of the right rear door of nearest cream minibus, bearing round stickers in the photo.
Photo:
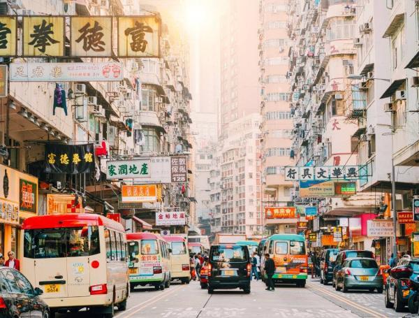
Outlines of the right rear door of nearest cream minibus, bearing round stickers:
[[98,254],[98,226],[69,228],[67,242],[67,296],[90,296],[89,252]]

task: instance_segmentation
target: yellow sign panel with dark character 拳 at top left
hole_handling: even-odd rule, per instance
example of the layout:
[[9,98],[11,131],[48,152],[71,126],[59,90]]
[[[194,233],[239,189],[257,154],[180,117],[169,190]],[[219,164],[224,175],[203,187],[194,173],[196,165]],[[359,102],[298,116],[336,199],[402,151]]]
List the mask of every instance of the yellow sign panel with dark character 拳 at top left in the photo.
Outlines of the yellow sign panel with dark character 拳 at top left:
[[25,57],[62,57],[64,44],[64,17],[23,17]]

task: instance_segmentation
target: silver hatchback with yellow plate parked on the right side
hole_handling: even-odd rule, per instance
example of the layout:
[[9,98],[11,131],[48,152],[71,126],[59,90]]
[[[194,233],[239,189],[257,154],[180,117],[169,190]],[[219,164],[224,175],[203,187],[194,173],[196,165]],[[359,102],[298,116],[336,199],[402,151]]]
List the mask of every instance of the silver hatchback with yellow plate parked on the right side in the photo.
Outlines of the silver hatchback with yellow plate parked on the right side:
[[354,257],[346,259],[344,266],[337,272],[335,289],[369,289],[378,293],[383,292],[383,276],[379,275],[378,264],[375,259]]

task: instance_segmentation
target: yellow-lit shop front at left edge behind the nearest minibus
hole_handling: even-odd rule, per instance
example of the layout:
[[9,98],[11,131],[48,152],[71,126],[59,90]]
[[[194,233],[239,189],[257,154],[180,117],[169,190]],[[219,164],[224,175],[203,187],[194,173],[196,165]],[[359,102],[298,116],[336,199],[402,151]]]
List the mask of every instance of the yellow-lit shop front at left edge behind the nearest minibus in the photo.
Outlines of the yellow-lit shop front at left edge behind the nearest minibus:
[[38,178],[0,164],[0,252],[18,255],[19,227],[38,214]]

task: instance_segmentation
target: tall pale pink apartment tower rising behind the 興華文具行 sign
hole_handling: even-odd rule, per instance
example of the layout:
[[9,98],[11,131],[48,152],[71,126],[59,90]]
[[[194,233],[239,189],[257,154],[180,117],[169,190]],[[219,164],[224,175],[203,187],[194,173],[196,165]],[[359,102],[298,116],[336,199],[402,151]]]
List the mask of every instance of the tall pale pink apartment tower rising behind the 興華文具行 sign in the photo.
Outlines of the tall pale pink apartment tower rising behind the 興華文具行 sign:
[[[291,204],[293,183],[284,180],[284,166],[294,164],[291,151],[293,120],[290,110],[291,86],[287,79],[293,41],[288,36],[288,3],[277,0],[259,2],[259,67],[261,85],[260,114],[262,136],[263,205]],[[285,224],[297,219],[265,219],[272,233],[284,232]],[[282,225],[281,225],[282,224]]]

